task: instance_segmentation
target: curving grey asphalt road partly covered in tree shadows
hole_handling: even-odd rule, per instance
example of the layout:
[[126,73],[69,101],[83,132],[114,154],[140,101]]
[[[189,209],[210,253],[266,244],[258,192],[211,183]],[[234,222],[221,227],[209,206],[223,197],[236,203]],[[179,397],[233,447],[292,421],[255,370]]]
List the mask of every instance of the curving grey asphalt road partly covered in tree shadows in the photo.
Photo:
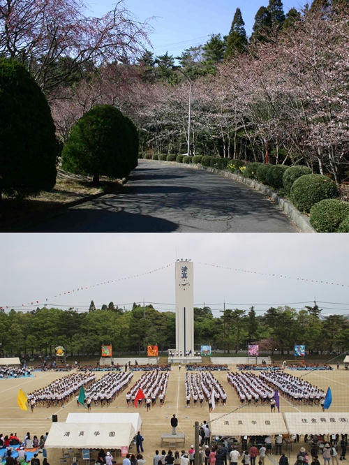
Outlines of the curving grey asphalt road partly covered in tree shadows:
[[205,171],[140,161],[120,193],[71,207],[29,232],[296,232],[272,202]]

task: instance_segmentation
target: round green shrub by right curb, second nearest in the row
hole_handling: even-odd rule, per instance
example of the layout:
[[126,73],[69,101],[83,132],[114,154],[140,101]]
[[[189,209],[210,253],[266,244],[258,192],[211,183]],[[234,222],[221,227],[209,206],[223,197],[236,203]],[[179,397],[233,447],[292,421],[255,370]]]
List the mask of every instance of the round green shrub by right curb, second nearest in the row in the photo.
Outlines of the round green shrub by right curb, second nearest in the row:
[[323,175],[304,175],[292,184],[290,200],[301,212],[309,212],[315,203],[336,197],[337,193],[332,179]]

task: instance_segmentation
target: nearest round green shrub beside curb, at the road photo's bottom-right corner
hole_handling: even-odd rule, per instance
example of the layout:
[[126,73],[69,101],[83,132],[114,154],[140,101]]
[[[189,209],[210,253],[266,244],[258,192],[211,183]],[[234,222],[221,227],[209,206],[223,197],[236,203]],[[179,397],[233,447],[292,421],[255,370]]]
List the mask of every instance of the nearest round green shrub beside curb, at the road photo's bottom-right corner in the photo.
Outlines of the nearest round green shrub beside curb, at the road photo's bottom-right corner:
[[336,232],[349,216],[349,203],[327,198],[315,203],[310,210],[310,223],[318,232]]

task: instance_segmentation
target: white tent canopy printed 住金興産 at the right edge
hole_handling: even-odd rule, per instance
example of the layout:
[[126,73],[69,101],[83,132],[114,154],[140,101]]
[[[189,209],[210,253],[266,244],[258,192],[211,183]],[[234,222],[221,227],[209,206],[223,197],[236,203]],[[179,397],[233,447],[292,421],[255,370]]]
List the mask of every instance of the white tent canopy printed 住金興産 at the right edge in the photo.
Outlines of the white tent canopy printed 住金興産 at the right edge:
[[290,434],[349,434],[349,412],[285,412]]

